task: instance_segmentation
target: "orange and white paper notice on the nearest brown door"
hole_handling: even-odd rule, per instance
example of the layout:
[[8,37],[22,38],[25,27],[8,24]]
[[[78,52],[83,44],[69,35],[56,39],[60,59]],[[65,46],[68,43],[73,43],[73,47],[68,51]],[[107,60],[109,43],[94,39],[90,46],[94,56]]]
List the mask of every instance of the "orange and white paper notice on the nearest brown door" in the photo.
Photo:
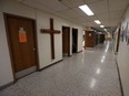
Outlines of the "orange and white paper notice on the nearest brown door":
[[19,29],[19,42],[20,43],[26,43],[27,42],[27,34],[23,28]]

